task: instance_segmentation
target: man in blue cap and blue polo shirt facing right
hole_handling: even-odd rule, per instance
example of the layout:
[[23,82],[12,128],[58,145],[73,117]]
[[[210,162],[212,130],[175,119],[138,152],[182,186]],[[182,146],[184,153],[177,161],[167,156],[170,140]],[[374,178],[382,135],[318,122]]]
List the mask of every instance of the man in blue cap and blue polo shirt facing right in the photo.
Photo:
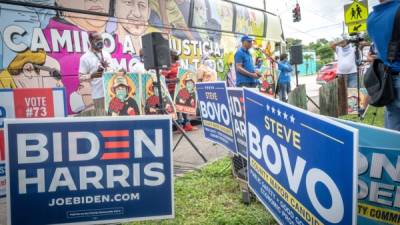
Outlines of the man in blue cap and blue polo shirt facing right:
[[253,38],[245,35],[241,39],[242,47],[235,54],[236,86],[254,88],[261,75],[254,68],[253,58],[249,52]]

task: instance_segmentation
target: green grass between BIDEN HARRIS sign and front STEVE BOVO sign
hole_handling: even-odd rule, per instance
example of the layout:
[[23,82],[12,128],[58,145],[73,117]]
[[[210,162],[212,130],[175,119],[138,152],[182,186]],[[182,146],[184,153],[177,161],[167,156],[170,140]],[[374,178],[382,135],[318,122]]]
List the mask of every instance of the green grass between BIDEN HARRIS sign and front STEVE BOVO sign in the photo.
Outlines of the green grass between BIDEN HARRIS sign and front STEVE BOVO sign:
[[241,202],[239,183],[232,176],[229,158],[175,180],[175,219],[130,225],[265,225],[277,224],[259,202]]

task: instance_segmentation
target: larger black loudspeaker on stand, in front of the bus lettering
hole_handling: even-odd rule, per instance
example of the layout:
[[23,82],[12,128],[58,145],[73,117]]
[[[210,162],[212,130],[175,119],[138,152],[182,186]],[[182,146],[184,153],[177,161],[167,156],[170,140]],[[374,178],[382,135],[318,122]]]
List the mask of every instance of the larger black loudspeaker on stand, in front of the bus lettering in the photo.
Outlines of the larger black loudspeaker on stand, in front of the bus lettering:
[[161,33],[153,32],[142,36],[144,68],[162,69],[171,66],[169,42]]

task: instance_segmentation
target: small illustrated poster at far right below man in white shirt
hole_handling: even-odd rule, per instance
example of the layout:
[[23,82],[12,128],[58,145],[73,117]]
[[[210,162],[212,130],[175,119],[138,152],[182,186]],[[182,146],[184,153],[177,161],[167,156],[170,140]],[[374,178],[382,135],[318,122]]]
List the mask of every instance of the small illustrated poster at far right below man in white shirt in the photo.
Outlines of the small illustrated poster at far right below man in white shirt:
[[[357,99],[358,99],[358,93],[357,93],[357,88],[347,88],[347,112],[348,114],[358,114],[358,105],[357,105]],[[363,114],[367,107],[368,107],[368,92],[367,89],[365,88],[360,88],[360,113]]]

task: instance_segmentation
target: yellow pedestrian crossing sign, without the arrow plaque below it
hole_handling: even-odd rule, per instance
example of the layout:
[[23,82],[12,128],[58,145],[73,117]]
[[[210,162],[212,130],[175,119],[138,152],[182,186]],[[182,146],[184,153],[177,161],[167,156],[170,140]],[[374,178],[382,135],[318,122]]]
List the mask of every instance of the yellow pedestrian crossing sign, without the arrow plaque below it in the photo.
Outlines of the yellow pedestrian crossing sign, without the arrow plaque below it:
[[366,21],[368,18],[368,2],[354,0],[344,6],[344,21],[347,25]]

